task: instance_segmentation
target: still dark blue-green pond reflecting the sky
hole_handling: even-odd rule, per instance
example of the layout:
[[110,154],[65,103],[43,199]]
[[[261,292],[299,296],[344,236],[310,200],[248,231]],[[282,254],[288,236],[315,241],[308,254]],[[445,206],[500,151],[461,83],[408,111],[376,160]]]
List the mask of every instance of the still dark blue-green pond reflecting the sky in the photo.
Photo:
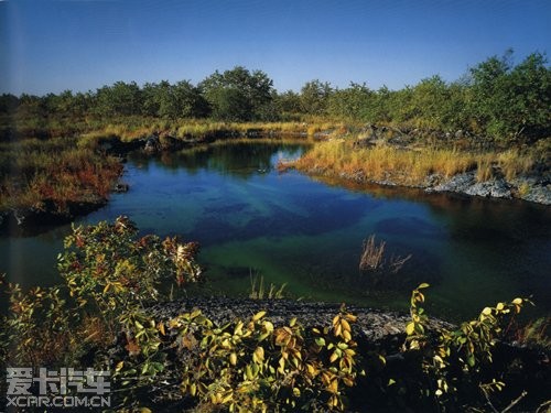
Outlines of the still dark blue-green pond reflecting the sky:
[[[359,187],[279,173],[307,141],[235,141],[145,156],[131,153],[125,194],[77,224],[127,215],[141,232],[181,235],[202,246],[207,294],[246,296],[251,278],[294,298],[407,309],[429,282],[426,307],[452,320],[498,301],[533,295],[531,314],[551,309],[549,207],[514,200]],[[0,271],[23,285],[60,281],[55,259],[69,226],[0,238]],[[376,235],[397,273],[359,271]]]

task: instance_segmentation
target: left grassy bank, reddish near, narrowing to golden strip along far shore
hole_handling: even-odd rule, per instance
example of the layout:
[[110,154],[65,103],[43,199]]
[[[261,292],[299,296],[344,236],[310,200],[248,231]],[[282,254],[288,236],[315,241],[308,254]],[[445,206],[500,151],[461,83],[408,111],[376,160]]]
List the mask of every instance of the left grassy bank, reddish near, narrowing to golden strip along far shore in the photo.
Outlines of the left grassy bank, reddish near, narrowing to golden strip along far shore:
[[104,120],[83,118],[73,123],[57,119],[39,123],[18,122],[0,141],[0,210],[44,209],[46,203],[53,203],[57,211],[63,211],[67,203],[107,198],[122,165],[100,150],[99,143],[106,139],[131,142],[154,133],[161,140],[170,137],[206,142],[247,134],[314,135],[345,128],[344,124],[323,121],[169,121],[139,116]]

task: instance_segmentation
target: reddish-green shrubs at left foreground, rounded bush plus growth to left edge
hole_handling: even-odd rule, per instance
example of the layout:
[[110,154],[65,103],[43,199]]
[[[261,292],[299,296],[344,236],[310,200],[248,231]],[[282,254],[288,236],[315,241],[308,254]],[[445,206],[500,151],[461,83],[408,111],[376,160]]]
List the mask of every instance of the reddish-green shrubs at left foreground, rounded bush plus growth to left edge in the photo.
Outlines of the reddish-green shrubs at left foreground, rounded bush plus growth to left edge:
[[[12,352],[2,359],[60,365],[66,357],[78,356],[83,351],[79,346],[96,339],[99,332],[106,345],[120,330],[147,325],[144,305],[166,298],[160,291],[163,280],[177,285],[198,280],[195,243],[181,243],[175,238],[162,241],[156,236],[138,238],[137,233],[125,217],[115,224],[73,227],[65,239],[65,252],[58,256],[65,284],[24,293],[19,285],[4,282],[10,314],[3,319],[2,344]],[[151,338],[150,333],[133,338],[140,338],[138,345],[143,349],[152,346],[143,344]]]

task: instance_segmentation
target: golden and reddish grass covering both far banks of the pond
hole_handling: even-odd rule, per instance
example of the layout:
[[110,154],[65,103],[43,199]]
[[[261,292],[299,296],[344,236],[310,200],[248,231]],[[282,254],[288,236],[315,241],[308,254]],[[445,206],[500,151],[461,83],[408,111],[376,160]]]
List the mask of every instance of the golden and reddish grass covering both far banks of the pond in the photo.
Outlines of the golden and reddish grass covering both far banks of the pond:
[[247,135],[333,138],[314,145],[293,166],[317,175],[408,186],[425,186],[430,175],[445,180],[475,170],[479,182],[494,176],[511,181],[537,165],[544,165],[550,152],[549,140],[539,141],[530,151],[465,149],[473,145],[463,145],[460,150],[458,145],[429,144],[423,139],[413,139],[413,144],[408,146],[379,143],[357,148],[354,142],[365,133],[360,126],[315,117],[298,122],[219,122],[130,116],[104,120],[83,118],[71,127],[69,123],[56,124],[54,128],[46,123],[45,129],[34,130],[29,123],[15,124],[11,137],[0,141],[0,210],[40,209],[50,202],[62,211],[67,203],[107,198],[122,170],[119,161],[106,155],[99,146],[102,140],[112,138],[132,142],[158,134],[161,143],[165,137],[196,143]]

